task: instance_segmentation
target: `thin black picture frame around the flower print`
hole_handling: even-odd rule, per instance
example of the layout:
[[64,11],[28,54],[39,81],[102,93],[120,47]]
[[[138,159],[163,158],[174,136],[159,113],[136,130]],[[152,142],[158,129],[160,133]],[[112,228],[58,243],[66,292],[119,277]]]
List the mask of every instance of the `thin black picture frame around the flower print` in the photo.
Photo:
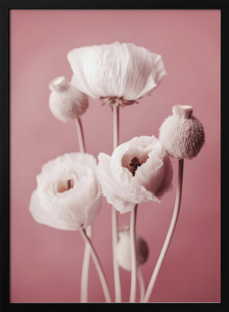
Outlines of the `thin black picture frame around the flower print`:
[[[10,303],[10,20],[11,9],[220,9],[221,10],[221,302],[220,303]],[[228,36],[229,2],[184,0],[0,1],[0,311],[229,311],[228,257]],[[214,151],[213,151],[214,152]],[[209,261],[211,261],[209,259]],[[109,306],[108,306],[109,305]]]

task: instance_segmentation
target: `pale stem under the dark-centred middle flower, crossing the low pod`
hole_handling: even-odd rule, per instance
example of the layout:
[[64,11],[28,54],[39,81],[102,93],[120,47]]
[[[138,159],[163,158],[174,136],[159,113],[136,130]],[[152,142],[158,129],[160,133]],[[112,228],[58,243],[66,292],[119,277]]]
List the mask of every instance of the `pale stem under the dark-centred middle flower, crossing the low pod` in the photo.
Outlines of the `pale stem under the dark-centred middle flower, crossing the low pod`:
[[131,284],[130,302],[135,302],[137,290],[137,259],[136,259],[136,217],[137,206],[130,212],[130,251],[131,251]]

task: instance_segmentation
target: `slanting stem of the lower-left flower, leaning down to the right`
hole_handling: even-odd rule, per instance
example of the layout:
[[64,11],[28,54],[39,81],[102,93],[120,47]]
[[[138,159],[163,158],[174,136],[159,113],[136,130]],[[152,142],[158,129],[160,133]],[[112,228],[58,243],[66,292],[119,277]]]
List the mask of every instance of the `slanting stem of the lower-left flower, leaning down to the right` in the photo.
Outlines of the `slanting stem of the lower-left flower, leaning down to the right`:
[[109,291],[108,286],[107,286],[107,281],[106,281],[106,278],[105,278],[102,266],[100,264],[99,258],[97,256],[97,253],[95,251],[95,248],[94,248],[94,246],[92,244],[92,241],[87,236],[85,229],[83,229],[81,227],[79,229],[79,231],[80,231],[80,234],[81,234],[82,238],[84,239],[85,243],[90,246],[91,256],[92,256],[92,259],[93,259],[93,261],[95,263],[96,270],[97,270],[99,278],[100,278],[100,282],[101,282],[102,289],[103,289],[103,292],[104,292],[105,300],[106,300],[106,302],[111,302],[110,291]]

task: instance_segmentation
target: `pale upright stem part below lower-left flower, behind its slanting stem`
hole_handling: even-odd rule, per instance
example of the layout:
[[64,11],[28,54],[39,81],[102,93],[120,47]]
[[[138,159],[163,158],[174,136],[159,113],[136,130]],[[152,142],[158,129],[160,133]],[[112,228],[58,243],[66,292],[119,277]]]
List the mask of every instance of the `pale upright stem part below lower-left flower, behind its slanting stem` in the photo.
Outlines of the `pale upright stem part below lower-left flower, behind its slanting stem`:
[[[86,234],[91,239],[92,237],[92,227],[88,225],[86,227]],[[90,246],[85,243],[83,265],[81,273],[81,287],[80,287],[80,302],[87,302],[88,297],[88,273],[90,264]]]

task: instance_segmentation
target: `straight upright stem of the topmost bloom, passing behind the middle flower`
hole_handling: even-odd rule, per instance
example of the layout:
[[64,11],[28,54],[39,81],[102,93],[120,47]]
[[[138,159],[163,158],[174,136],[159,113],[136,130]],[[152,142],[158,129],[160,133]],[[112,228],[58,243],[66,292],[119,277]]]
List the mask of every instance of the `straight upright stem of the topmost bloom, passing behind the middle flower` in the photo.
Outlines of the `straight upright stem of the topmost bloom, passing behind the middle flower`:
[[[113,105],[113,149],[119,145],[119,106]],[[112,206],[112,247],[113,247],[113,270],[115,282],[115,302],[122,302],[119,265],[116,259],[116,246],[118,243],[118,213]]]

